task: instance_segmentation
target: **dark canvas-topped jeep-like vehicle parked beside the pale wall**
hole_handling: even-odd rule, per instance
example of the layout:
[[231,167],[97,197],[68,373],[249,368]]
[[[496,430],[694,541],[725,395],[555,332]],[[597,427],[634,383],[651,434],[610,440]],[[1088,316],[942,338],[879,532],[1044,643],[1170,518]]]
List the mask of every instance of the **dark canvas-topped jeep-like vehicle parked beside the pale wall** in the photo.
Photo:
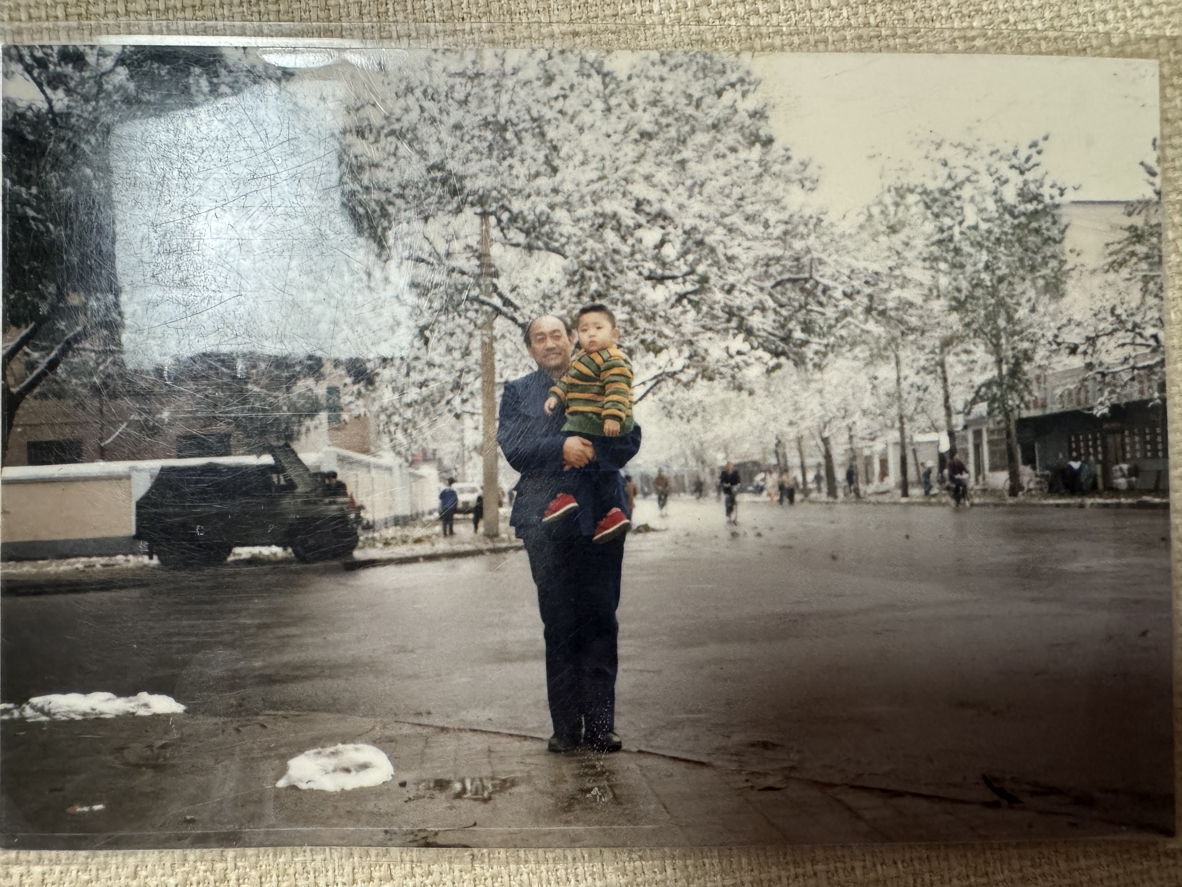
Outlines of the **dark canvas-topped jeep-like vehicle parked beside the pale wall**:
[[273,465],[161,468],[136,503],[136,536],[164,566],[217,564],[239,545],[281,545],[303,563],[349,557],[356,511],[335,472],[310,471],[290,445]]

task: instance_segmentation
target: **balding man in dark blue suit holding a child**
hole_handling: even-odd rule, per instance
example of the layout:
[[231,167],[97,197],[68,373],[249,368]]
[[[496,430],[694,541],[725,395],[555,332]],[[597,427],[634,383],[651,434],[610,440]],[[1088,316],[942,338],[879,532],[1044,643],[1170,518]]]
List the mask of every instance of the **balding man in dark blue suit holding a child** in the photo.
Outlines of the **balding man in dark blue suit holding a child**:
[[509,465],[521,473],[509,524],[525,542],[538,587],[546,639],[546,697],[554,726],[547,747],[556,753],[619,751],[616,607],[625,537],[593,544],[595,516],[586,511],[557,531],[543,525],[541,516],[559,490],[564,467],[613,472],[623,488],[619,470],[639,449],[641,427],[618,438],[597,439],[595,445],[565,436],[563,414],[548,416],[544,406],[550,387],[570,367],[574,348],[570,325],[557,317],[539,317],[526,328],[525,344],[538,369],[505,383],[496,440]]

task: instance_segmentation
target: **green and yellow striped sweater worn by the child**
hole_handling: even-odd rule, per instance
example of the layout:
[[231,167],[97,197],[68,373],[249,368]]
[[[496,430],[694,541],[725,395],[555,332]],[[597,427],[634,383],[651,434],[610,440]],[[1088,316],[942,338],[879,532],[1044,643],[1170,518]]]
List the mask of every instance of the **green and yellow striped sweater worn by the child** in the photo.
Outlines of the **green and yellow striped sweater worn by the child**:
[[618,348],[579,351],[551,394],[566,404],[564,432],[603,436],[603,420],[619,422],[619,433],[632,429],[632,363]]

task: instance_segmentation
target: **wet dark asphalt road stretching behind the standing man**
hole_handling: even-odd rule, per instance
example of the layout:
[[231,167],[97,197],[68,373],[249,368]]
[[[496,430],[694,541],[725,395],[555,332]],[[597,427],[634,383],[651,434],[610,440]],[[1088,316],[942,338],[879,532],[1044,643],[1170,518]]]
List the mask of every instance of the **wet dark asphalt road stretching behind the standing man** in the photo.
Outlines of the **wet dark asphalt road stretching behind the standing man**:
[[[617,729],[738,770],[1171,828],[1164,511],[641,503]],[[0,695],[164,693],[545,737],[524,552],[155,569],[2,598]],[[6,771],[11,784],[19,773]]]

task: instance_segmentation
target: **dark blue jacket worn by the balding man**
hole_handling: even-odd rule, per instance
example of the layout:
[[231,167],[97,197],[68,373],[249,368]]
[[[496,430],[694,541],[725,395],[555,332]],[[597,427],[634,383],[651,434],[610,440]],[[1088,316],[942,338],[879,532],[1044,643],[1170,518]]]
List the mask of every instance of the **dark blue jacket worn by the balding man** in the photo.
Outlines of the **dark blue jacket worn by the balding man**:
[[[554,381],[543,370],[505,383],[501,396],[500,423],[496,442],[506,460],[521,479],[514,487],[517,498],[509,514],[509,526],[519,539],[525,539],[541,526],[541,513],[559,491],[563,475],[563,423],[561,410],[546,415],[544,406]],[[641,448],[641,426],[635,425],[628,434],[618,438],[596,438],[596,459],[589,468],[615,472],[616,483],[623,497],[624,478],[619,470]],[[623,497],[626,500],[626,497]],[[595,518],[590,510],[578,514],[579,532],[590,537],[595,530]]]

